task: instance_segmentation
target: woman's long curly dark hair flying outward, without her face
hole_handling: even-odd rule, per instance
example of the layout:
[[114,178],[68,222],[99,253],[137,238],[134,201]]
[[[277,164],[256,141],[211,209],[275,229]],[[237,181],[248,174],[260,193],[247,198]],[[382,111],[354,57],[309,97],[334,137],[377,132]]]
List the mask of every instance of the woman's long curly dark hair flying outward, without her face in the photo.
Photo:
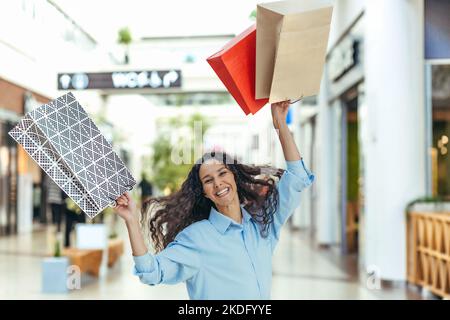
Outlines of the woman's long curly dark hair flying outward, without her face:
[[239,201],[259,224],[263,237],[273,221],[278,206],[275,179],[283,170],[269,166],[244,165],[222,152],[206,153],[191,168],[181,189],[169,196],[150,198],[142,207],[141,223],[156,252],[163,250],[176,235],[194,222],[208,219],[214,203],[203,194],[200,166],[211,159],[223,163],[234,175]]

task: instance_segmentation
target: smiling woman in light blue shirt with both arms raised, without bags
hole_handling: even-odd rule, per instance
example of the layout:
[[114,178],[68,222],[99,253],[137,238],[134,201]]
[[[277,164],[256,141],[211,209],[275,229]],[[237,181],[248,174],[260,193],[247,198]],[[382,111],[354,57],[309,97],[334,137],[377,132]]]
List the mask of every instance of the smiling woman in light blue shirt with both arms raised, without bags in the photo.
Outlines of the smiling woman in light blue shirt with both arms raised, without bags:
[[186,282],[192,299],[270,298],[272,254],[281,227],[314,180],[286,125],[288,108],[289,102],[272,104],[286,170],[248,166],[212,152],[194,164],[178,192],[147,202],[141,223],[156,255],[147,252],[129,194],[117,199],[134,273],[143,283]]

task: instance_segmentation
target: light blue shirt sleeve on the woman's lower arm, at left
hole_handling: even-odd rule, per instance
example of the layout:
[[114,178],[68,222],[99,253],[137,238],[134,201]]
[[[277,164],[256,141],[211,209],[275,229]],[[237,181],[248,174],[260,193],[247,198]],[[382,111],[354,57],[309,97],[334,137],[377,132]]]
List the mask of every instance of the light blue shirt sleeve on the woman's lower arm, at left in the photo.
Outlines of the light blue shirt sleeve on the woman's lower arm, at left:
[[183,232],[157,255],[146,253],[133,258],[133,274],[148,285],[184,282],[200,270],[199,252]]

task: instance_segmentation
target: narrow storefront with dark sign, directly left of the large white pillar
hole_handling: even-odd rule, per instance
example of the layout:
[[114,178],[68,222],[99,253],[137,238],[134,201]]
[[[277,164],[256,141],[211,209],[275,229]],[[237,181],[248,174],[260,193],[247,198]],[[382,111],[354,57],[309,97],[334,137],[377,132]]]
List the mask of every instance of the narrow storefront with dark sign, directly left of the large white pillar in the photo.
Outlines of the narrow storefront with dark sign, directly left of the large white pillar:
[[358,252],[364,202],[360,117],[364,108],[364,14],[360,14],[327,55],[328,105],[333,108],[337,148],[335,196],[342,253]]

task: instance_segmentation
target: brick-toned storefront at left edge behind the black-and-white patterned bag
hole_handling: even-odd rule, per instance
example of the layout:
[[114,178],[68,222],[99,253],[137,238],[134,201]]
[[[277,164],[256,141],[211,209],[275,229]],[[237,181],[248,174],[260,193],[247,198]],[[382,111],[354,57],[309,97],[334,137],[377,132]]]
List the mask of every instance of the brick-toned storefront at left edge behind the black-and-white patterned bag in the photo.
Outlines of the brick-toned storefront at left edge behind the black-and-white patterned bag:
[[48,101],[0,79],[0,236],[30,231],[33,221],[46,222],[42,171],[8,132],[24,112]]

